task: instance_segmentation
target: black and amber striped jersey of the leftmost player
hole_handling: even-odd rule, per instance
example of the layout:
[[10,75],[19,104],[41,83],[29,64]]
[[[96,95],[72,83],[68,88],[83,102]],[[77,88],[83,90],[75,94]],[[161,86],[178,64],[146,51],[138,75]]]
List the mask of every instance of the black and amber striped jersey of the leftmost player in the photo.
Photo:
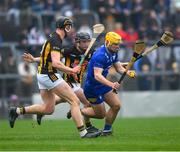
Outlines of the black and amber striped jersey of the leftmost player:
[[40,62],[38,65],[38,73],[57,73],[57,70],[54,67],[52,67],[51,52],[56,51],[61,53],[61,50],[62,40],[60,36],[56,32],[50,34],[42,47]]

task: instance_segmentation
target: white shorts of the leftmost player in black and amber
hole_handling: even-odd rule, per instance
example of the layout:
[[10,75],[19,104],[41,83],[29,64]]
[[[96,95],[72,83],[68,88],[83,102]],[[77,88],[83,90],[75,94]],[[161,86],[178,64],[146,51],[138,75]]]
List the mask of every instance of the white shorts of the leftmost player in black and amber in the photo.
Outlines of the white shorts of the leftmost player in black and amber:
[[51,90],[58,86],[60,83],[64,82],[60,74],[55,73],[58,78],[56,81],[52,81],[47,74],[37,74],[38,87],[40,90],[47,89]]

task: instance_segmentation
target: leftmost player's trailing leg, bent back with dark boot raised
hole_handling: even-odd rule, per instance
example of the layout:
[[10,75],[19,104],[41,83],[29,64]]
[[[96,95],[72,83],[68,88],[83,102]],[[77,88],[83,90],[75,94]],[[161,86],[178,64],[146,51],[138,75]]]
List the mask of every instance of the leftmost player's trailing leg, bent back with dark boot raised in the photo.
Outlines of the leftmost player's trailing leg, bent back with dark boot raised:
[[51,90],[40,90],[41,98],[44,103],[34,104],[27,107],[11,107],[9,111],[9,123],[14,127],[16,118],[20,114],[52,114],[55,107],[55,97]]

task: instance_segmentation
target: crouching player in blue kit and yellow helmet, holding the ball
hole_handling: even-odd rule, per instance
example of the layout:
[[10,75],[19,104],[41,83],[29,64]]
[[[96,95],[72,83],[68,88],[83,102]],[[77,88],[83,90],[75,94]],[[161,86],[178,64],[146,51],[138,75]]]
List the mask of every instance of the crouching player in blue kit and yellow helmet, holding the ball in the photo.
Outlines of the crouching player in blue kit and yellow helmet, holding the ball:
[[[84,83],[84,93],[91,102],[92,107],[81,110],[82,114],[91,117],[105,118],[105,126],[102,135],[112,134],[112,124],[121,108],[121,100],[113,89],[118,89],[118,82],[109,81],[106,76],[110,67],[114,66],[116,71],[123,73],[125,68],[118,60],[119,46],[122,43],[121,36],[115,32],[108,32],[105,36],[105,44],[98,48],[93,54]],[[133,74],[132,74],[133,72]],[[134,76],[134,71],[128,71],[128,76]],[[104,102],[110,109],[106,112]]]

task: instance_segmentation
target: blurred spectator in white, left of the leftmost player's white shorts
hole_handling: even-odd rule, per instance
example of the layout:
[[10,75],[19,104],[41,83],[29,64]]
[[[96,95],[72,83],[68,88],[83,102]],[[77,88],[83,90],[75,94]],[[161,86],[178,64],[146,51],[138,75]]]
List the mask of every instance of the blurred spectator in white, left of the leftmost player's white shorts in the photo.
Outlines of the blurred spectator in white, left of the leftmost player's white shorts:
[[31,103],[33,76],[36,74],[36,68],[33,64],[21,62],[18,65],[18,73],[20,75],[20,97],[26,98],[26,103]]

